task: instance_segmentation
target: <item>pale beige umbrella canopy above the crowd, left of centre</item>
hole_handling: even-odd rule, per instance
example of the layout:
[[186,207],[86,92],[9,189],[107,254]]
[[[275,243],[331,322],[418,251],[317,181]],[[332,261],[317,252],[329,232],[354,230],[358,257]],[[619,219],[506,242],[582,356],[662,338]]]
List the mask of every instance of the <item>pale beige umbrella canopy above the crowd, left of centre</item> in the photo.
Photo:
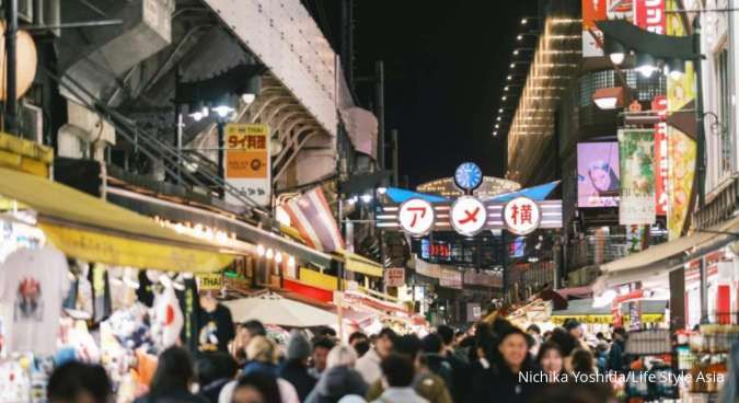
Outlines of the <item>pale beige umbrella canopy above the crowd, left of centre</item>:
[[258,320],[265,324],[290,327],[328,326],[338,323],[338,316],[307,303],[270,293],[223,302],[235,322]]

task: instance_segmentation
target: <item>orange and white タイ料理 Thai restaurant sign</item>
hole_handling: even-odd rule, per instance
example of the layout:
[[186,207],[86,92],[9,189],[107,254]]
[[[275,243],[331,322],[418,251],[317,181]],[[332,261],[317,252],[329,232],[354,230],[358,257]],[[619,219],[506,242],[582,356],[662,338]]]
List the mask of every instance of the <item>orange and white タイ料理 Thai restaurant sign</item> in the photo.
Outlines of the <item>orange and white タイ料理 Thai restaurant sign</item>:
[[[269,128],[261,124],[228,124],[226,136],[226,182],[261,206],[272,202]],[[240,204],[226,195],[226,202]]]

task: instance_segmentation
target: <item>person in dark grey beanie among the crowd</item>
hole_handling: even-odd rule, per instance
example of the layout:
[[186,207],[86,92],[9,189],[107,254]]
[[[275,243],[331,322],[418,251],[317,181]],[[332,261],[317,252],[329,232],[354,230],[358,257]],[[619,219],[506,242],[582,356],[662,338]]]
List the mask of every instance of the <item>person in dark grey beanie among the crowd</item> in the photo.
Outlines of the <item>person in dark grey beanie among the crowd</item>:
[[290,332],[287,344],[286,360],[280,369],[280,378],[292,383],[300,401],[311,393],[317,380],[308,372],[308,358],[311,356],[311,344],[298,330]]

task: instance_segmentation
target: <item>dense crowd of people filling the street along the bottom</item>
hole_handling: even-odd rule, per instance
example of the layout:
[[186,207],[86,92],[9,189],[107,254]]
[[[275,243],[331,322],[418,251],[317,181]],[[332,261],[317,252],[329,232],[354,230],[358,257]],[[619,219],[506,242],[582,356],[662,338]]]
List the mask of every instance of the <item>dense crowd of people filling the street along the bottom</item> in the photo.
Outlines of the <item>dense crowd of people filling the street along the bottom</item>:
[[[230,350],[195,357],[182,347],[164,350],[137,402],[609,402],[607,381],[578,378],[626,370],[624,332],[610,336],[599,335],[593,346],[576,321],[542,334],[497,319],[467,332],[440,325],[423,338],[390,329],[356,332],[348,344],[328,327],[312,339],[292,330],[280,346],[250,321],[238,325]],[[105,371],[80,362],[57,368],[48,384],[53,403],[107,402],[112,394]]]

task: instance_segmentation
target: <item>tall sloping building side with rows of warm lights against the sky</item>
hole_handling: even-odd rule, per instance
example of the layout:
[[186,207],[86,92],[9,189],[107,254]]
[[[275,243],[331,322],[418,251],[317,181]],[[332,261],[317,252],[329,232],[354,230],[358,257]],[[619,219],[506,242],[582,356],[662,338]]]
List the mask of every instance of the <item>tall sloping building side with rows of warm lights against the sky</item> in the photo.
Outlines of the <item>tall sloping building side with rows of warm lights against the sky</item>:
[[580,59],[580,20],[550,15],[508,128],[508,177],[528,185],[555,130],[554,112]]

